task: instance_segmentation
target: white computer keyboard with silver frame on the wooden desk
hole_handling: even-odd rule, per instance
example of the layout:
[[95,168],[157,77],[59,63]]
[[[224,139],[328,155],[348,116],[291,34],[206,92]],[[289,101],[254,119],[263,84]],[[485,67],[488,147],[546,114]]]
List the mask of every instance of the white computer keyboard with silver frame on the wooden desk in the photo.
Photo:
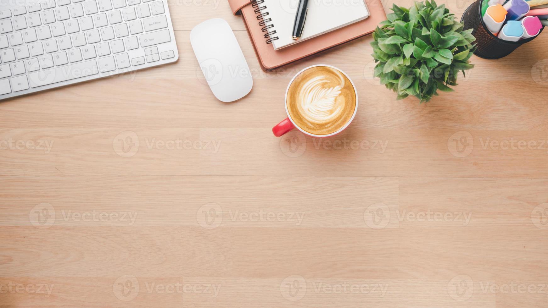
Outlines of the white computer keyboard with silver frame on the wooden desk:
[[177,61],[166,1],[0,0],[0,100]]

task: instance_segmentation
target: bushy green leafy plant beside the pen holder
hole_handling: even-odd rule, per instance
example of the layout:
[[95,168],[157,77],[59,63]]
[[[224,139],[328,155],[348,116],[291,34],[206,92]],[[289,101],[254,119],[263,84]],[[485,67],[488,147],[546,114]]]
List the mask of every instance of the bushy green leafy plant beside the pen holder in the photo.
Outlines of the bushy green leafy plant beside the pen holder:
[[473,29],[463,31],[455,15],[434,0],[409,9],[394,4],[392,11],[373,33],[375,77],[398,100],[413,95],[422,103],[437,90],[453,91],[449,86],[457,85],[459,71],[473,68]]

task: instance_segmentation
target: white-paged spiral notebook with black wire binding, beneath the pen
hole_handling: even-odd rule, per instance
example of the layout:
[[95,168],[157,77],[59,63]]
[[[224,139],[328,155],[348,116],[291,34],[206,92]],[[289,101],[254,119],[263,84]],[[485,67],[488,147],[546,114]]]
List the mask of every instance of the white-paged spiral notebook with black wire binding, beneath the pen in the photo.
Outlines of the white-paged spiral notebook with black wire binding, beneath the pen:
[[351,25],[369,16],[367,5],[362,0],[309,0],[302,36],[294,40],[293,25],[299,0],[259,0],[256,3],[275,50]]

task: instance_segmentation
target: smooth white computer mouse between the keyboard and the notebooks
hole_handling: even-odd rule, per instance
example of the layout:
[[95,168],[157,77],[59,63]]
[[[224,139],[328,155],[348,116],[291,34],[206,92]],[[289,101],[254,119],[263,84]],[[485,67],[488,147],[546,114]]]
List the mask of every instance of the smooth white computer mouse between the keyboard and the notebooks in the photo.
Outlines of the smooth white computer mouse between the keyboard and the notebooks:
[[219,101],[236,101],[251,91],[253,78],[228,22],[220,18],[202,22],[190,32],[190,43]]

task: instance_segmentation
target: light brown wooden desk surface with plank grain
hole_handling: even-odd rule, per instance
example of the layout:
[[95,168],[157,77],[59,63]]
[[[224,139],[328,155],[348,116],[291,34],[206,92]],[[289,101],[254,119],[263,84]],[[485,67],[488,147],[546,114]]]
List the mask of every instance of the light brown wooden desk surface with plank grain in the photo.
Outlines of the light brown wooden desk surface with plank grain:
[[[265,73],[224,0],[170,9],[178,63],[0,103],[0,307],[548,306],[548,34],[419,104],[371,78],[370,37]],[[238,102],[189,43],[214,17],[252,69]],[[316,63],[356,119],[273,137]]]

